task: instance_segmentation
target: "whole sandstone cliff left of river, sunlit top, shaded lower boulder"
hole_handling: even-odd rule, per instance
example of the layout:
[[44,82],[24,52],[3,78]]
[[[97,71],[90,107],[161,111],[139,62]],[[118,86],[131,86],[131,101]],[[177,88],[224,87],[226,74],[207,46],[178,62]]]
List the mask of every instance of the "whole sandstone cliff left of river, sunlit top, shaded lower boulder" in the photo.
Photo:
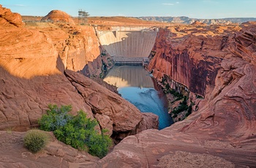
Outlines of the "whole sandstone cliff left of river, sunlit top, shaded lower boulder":
[[[12,20],[21,25],[20,15]],[[118,140],[142,131],[138,128],[146,121],[135,106],[77,72],[67,70],[64,75],[65,69],[78,71],[99,56],[94,28],[66,24],[12,28],[12,20],[0,27],[1,130],[24,131],[37,126],[48,104],[71,104],[73,115],[85,111],[110,135],[114,131]]]

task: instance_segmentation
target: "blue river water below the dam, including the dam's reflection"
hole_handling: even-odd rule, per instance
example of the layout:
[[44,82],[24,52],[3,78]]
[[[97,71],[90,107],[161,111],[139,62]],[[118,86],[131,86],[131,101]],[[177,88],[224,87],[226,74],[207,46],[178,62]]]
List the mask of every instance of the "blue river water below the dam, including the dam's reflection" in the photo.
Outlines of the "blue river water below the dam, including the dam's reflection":
[[154,89],[152,78],[142,66],[113,66],[104,80],[116,85],[121,96],[141,112],[153,112],[158,115],[159,129],[173,123],[165,106],[165,96]]

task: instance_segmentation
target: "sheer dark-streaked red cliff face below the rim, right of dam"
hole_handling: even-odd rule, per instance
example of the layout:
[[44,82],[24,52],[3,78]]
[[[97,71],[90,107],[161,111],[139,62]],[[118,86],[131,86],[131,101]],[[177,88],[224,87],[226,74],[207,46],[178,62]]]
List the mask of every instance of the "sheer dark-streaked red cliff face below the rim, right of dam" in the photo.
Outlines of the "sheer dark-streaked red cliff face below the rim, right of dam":
[[[181,43],[171,41],[176,36],[172,31],[160,29],[157,42],[153,48],[155,53],[148,64],[154,77],[162,80],[163,75],[171,77],[185,85],[189,91],[205,96],[206,85],[214,85],[217,68],[222,61],[222,50],[213,42],[221,41],[221,37],[177,37]],[[173,39],[175,41],[175,39]],[[214,55],[204,50],[208,48]],[[200,79],[200,80],[198,80]]]

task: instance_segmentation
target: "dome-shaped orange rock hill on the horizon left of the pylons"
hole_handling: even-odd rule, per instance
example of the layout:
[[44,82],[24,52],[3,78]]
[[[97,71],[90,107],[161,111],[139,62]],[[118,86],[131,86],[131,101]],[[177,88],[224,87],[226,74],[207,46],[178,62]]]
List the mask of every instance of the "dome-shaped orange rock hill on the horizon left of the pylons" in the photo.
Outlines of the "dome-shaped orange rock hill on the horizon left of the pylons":
[[61,10],[52,10],[42,18],[42,21],[52,21],[54,23],[69,23],[69,24],[75,24],[74,20],[70,15],[68,15],[66,12],[63,12]]

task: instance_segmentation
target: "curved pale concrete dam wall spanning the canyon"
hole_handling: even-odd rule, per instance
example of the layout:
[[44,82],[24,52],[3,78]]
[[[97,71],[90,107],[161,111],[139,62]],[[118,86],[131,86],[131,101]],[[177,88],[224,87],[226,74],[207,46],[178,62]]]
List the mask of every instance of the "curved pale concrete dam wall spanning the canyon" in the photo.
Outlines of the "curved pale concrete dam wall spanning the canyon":
[[115,64],[147,64],[157,31],[158,28],[117,26],[111,31],[97,30],[97,36]]

